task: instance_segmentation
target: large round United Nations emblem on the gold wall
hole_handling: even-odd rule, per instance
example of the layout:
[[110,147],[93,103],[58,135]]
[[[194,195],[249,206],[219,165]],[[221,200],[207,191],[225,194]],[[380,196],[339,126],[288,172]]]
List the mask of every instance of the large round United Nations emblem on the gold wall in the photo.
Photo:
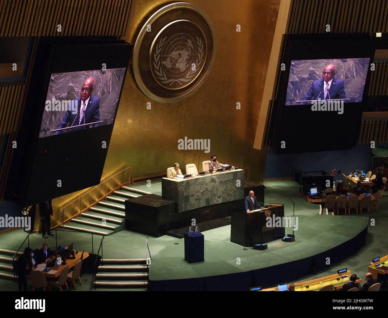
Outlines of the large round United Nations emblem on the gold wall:
[[140,31],[133,73],[144,94],[173,103],[199,89],[214,51],[213,26],[206,14],[189,3],[172,3],[156,11]]

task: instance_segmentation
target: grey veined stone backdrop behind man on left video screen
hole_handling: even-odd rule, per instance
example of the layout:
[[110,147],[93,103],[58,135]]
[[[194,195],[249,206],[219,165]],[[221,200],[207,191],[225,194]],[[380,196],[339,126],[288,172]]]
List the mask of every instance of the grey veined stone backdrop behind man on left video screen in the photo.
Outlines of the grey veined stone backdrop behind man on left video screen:
[[[100,120],[102,120],[100,125],[108,125],[114,120],[124,74],[125,68],[53,73],[46,100],[52,101],[54,97],[55,100],[73,101],[81,96],[83,82],[88,77],[93,77],[94,90],[92,95],[100,98]],[[45,109],[39,138],[54,135],[54,133],[50,133],[50,130],[57,129],[64,114],[65,111],[46,111]]]

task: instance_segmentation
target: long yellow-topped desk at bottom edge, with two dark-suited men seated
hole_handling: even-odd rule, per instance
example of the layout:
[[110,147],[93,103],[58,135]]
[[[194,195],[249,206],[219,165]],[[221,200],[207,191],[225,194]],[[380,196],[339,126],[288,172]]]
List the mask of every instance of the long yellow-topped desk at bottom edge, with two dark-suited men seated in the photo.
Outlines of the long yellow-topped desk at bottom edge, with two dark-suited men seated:
[[[341,290],[343,285],[350,282],[350,276],[352,276],[351,271],[346,271],[342,274],[333,274],[329,276],[325,276],[322,278],[316,278],[313,280],[308,280],[306,282],[295,283],[295,291],[296,292],[317,292],[322,287],[327,285],[333,285],[334,290]],[[342,278],[342,276],[346,276]],[[362,283],[362,279],[359,278],[356,280],[356,283]],[[259,292],[277,292],[277,287],[265,288],[262,290],[258,290]]]

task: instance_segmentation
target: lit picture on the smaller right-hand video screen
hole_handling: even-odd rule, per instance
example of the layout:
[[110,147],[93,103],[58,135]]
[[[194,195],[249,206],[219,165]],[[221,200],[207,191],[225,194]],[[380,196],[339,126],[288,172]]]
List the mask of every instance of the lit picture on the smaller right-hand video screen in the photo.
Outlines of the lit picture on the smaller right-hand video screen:
[[286,105],[336,100],[361,103],[370,57],[293,60]]

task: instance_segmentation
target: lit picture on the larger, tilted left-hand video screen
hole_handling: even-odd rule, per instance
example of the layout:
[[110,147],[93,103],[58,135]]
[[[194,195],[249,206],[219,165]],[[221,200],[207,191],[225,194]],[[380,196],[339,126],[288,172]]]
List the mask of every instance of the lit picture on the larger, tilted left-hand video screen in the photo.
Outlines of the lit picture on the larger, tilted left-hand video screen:
[[125,68],[51,74],[39,138],[112,124],[124,75]]

